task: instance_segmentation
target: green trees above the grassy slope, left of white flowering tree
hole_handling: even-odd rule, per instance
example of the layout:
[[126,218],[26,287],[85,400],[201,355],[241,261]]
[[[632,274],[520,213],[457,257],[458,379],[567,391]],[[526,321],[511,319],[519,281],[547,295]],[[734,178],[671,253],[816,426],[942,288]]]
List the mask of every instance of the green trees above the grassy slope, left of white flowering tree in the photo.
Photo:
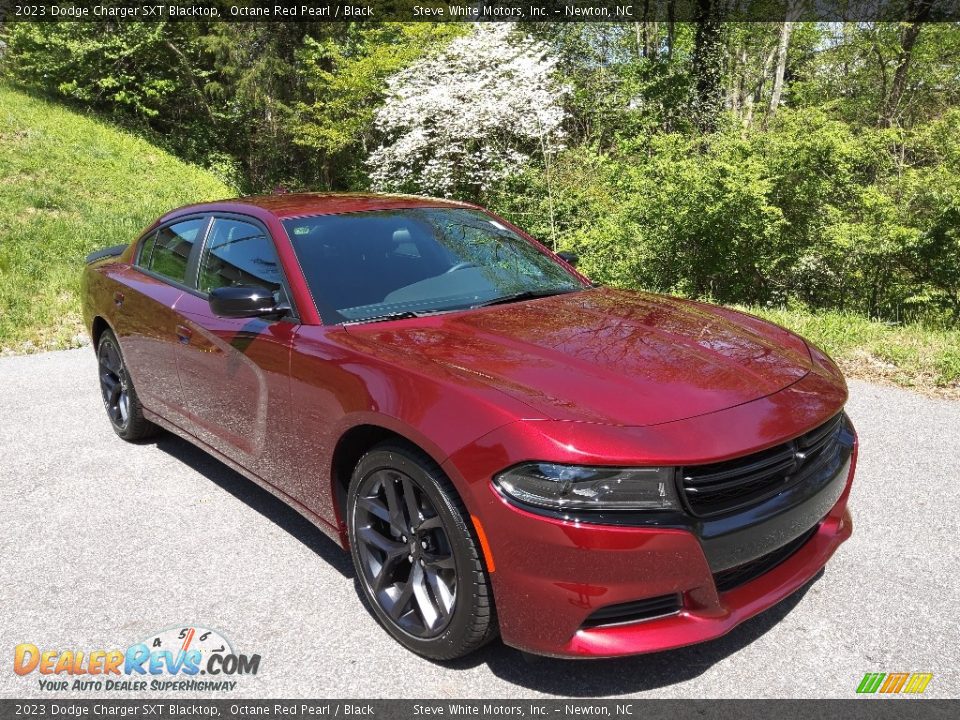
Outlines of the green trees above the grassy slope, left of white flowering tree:
[[428,23],[16,23],[3,74],[248,192],[356,188],[389,74],[466,30]]

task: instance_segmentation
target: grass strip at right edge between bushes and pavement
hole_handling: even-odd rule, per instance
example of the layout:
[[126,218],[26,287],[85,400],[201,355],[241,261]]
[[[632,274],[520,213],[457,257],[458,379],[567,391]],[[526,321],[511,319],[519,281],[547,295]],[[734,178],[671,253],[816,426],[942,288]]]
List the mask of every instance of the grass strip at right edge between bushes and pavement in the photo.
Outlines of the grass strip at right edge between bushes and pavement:
[[891,325],[836,311],[744,309],[812,340],[852,377],[960,397],[960,330]]

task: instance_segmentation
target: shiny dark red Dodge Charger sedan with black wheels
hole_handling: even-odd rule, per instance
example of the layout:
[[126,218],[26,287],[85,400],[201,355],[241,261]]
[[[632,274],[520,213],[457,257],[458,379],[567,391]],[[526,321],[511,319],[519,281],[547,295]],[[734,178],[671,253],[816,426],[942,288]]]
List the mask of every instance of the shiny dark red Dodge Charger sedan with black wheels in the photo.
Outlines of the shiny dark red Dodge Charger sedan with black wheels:
[[113,429],[164,428],[349,548],[432,658],[715,638],[851,533],[823,352],[734,310],[591,284],[474,205],[194,205],[88,258]]

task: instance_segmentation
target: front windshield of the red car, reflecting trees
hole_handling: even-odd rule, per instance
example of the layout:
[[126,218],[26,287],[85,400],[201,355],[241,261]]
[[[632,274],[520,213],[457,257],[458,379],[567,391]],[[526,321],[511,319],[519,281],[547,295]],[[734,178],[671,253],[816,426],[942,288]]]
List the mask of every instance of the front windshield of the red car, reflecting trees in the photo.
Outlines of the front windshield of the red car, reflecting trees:
[[381,210],[283,224],[326,324],[456,310],[586,287],[533,244],[477,210]]

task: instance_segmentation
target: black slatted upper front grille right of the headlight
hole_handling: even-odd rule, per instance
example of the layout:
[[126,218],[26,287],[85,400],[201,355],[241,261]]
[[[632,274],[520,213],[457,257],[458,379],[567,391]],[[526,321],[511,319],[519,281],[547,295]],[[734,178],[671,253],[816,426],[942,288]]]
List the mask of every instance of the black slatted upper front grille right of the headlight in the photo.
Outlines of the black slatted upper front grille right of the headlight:
[[756,505],[816,471],[837,451],[843,413],[788,443],[710,465],[680,468],[687,506],[712,517]]

